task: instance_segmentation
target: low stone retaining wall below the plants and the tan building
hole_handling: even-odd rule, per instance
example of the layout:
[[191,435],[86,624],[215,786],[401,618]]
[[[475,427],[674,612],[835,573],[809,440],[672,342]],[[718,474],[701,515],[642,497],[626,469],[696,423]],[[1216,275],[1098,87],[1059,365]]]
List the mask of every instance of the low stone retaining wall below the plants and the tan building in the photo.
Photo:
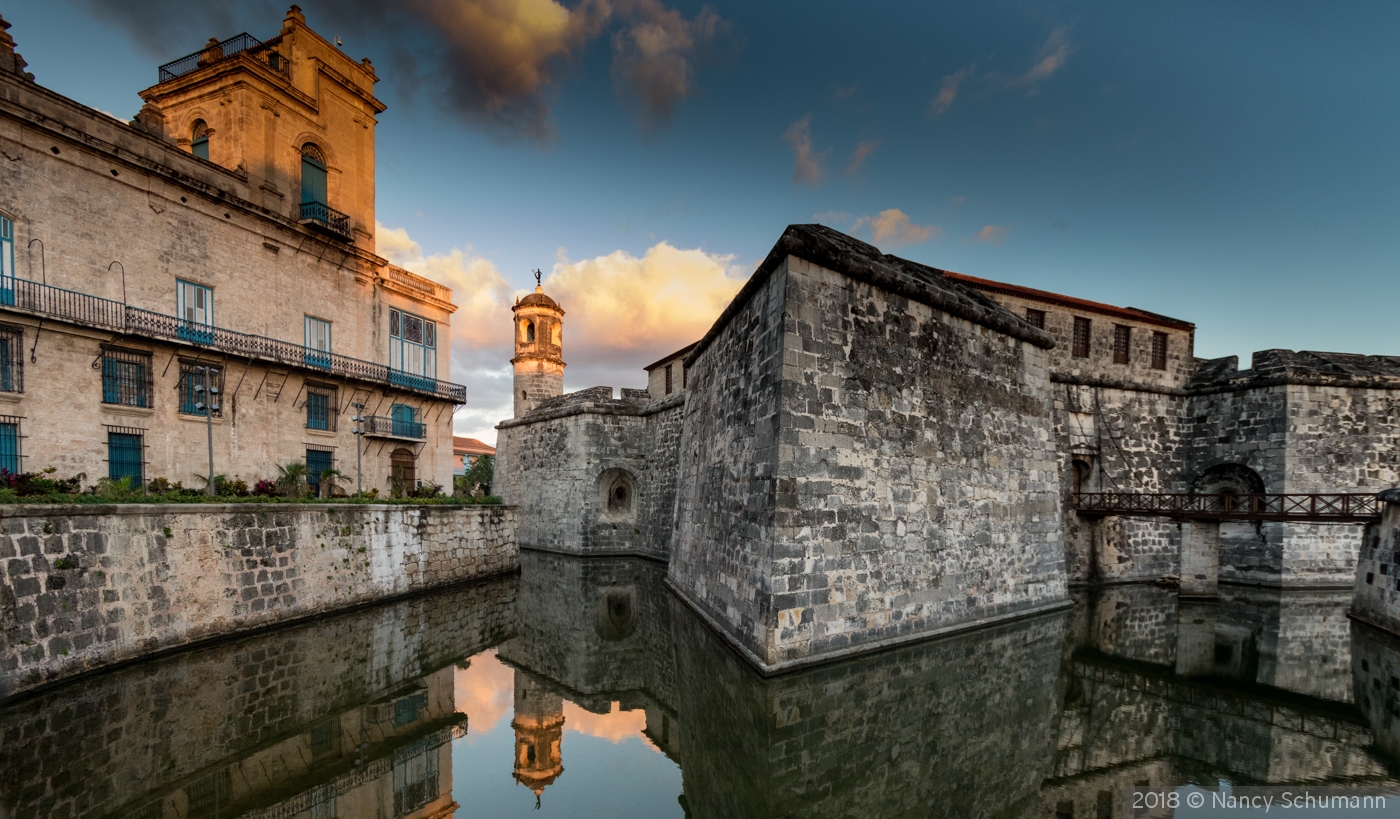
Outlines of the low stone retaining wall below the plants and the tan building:
[[6,507],[0,528],[4,696],[519,567],[505,507]]

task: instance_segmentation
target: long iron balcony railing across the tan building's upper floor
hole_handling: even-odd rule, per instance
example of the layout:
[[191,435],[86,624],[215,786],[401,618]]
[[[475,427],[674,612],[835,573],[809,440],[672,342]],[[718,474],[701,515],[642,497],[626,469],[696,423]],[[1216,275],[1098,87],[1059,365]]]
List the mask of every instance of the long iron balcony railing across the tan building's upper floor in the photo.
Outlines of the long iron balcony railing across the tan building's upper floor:
[[0,283],[3,283],[0,284],[0,309],[20,309],[48,318],[104,328],[118,333],[195,344],[230,356],[255,358],[287,367],[311,368],[328,375],[398,386],[454,403],[466,403],[466,388],[461,384],[391,370],[386,364],[375,364],[374,361],[312,350],[293,342],[190,322],[139,307],[129,307],[120,301],[50,287],[25,279],[0,279]]

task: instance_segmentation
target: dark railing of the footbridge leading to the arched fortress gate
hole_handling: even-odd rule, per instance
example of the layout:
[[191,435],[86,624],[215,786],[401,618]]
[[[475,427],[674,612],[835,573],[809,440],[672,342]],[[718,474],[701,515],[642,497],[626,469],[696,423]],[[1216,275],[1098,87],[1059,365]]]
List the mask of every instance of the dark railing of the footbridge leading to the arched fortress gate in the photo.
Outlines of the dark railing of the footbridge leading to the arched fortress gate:
[[1375,494],[1193,494],[1084,491],[1074,510],[1085,517],[1163,517],[1231,521],[1351,521],[1380,515]]

